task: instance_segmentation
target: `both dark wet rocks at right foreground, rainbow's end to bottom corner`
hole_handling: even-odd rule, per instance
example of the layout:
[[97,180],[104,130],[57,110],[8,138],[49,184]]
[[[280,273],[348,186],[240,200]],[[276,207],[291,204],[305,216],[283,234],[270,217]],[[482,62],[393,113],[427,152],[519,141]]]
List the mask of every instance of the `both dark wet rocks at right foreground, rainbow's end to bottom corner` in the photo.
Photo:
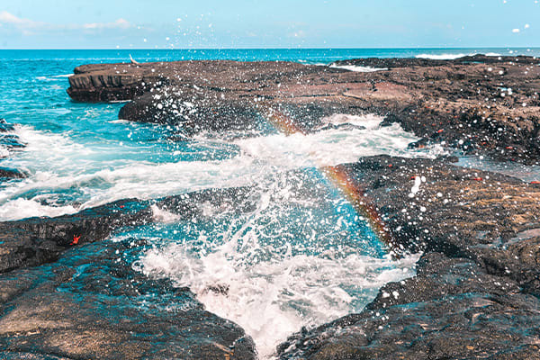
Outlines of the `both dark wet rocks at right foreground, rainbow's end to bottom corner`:
[[425,254],[417,276],[383,286],[360,314],[295,334],[280,358],[540,358],[538,185],[427,159],[343,168],[395,251]]

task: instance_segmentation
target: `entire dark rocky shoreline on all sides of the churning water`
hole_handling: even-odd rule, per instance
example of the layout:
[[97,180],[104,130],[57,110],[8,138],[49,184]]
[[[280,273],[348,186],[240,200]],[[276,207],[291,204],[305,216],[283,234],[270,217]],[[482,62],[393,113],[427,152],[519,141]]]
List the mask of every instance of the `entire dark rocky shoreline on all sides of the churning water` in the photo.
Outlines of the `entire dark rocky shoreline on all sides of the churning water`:
[[[183,136],[257,129],[268,111],[305,132],[331,114],[375,113],[422,138],[412,146],[438,143],[535,164],[539,63],[475,56],[356,59],[337,67],[103,64],[77,67],[67,92],[76,101],[131,100],[121,119],[167,123]],[[338,167],[381,214],[393,254],[424,253],[418,274],[383,286],[361,313],[292,334],[278,347],[279,358],[540,358],[540,184],[444,159],[363,157]],[[204,311],[189,289],[126,266],[122,257],[146,244],[103,242],[116,229],[153,221],[152,205],[190,217],[194,204],[239,203],[247,193],[130,199],[0,224],[0,356],[256,358],[253,340]],[[238,211],[249,211],[243,203]]]

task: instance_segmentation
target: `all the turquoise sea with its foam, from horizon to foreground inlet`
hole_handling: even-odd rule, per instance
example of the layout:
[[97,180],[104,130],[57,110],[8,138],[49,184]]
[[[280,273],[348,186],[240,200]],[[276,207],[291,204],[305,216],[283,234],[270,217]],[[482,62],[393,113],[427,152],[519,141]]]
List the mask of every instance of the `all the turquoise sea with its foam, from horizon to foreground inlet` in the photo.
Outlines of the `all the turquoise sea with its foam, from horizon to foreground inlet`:
[[[328,64],[510,51],[540,55],[539,49],[0,50],[0,118],[17,124],[14,134],[26,144],[2,148],[0,166],[29,174],[0,185],[0,219],[56,216],[122,198],[254,186],[253,211],[197,203],[202,216],[178,220],[155,209],[155,224],[123,229],[111,240],[148,238],[152,246],[129,259],[133,271],[189,286],[210,311],[247,329],[266,356],[291,332],[359,311],[381,285],[414,273],[416,257],[392,262],[367,221],[318,171],[320,165],[367,155],[419,155],[407,148],[414,136],[397,125],[378,128],[381,119],[368,117],[351,119],[369,123],[367,130],[285,137],[263,126],[248,139],[207,133],[175,141],[173,128],[118,121],[121,103],[71,101],[66,89],[73,68],[127,61],[130,55],[140,62]],[[216,284],[227,284],[229,295],[206,291]]]

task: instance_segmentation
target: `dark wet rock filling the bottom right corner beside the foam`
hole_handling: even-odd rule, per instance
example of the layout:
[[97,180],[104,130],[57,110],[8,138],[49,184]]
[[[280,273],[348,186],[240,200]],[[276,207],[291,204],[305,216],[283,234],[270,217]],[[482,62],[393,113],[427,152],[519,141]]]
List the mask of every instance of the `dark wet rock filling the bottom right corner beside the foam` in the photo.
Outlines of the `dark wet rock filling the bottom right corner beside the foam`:
[[[442,266],[431,264],[441,260]],[[485,275],[470,260],[428,254],[422,261],[435,268],[383,288],[394,304],[377,308],[382,304],[374,302],[372,310],[289,338],[280,358],[540,358],[536,297]]]

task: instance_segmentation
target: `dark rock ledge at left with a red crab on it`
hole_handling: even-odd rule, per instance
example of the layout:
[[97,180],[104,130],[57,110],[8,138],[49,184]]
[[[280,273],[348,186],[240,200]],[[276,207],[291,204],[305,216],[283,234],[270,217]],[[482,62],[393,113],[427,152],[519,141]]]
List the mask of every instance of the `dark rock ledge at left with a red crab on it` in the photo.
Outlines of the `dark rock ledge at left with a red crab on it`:
[[[202,211],[197,204],[211,202],[220,207],[241,202],[248,195],[247,187],[210,189],[151,202],[121,200],[58,218],[0,222],[0,273],[55,261],[70,247],[103,240],[115,229],[152,222],[152,204],[191,219]],[[242,203],[244,207],[237,211],[249,211],[251,202]]]

